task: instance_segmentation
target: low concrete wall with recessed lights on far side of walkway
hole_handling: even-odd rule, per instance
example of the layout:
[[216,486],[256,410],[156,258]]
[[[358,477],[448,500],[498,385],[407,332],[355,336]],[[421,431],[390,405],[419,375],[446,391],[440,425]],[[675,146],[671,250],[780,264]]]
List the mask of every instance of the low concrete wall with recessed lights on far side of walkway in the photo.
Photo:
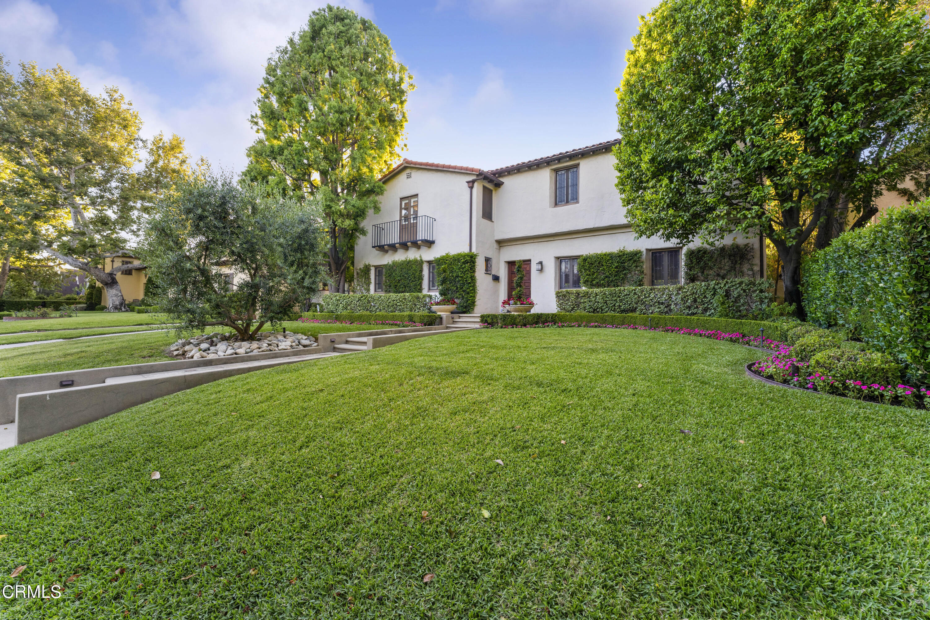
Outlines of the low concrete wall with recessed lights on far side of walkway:
[[[332,351],[332,348],[329,349]],[[9,424],[16,419],[16,397],[19,394],[45,392],[47,390],[73,391],[85,385],[102,384],[110,377],[122,377],[149,372],[183,371],[191,368],[220,366],[222,364],[276,359],[278,357],[306,356],[321,353],[319,346],[309,349],[291,351],[274,351],[271,353],[249,353],[245,356],[206,357],[206,359],[177,359],[172,361],[152,362],[149,364],[130,364],[128,366],[110,366],[91,368],[83,371],[46,372],[45,374],[26,374],[20,377],[0,379],[0,424]],[[70,386],[62,386],[62,381],[73,381]]]

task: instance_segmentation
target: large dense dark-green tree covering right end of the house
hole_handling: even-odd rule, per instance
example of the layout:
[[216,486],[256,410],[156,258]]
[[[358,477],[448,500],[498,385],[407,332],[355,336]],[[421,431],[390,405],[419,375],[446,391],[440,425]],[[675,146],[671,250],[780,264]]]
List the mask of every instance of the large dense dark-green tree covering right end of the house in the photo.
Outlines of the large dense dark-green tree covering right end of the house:
[[664,0],[618,88],[617,187],[634,230],[761,232],[803,316],[804,242],[868,222],[885,188],[922,187],[928,63],[910,0]]

